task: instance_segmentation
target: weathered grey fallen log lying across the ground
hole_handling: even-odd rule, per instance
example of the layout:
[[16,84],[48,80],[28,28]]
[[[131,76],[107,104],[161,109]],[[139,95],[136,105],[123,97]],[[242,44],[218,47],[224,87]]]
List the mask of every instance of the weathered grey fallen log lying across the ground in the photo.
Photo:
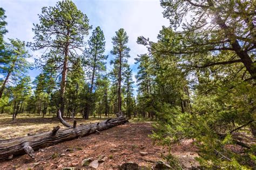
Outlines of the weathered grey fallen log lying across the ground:
[[128,122],[125,117],[107,119],[102,122],[76,126],[60,130],[57,126],[52,131],[32,134],[31,136],[0,140],[0,159],[12,158],[14,155],[28,154],[35,158],[35,150],[58,144],[62,141],[87,136],[91,133],[103,131],[113,126]]

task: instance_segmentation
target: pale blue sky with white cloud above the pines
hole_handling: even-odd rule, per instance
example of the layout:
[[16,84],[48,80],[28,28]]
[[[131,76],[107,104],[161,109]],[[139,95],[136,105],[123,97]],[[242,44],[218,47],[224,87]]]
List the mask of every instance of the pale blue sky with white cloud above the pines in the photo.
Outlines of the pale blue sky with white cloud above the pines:
[[[32,41],[33,23],[38,23],[37,14],[41,13],[43,6],[54,6],[56,0],[1,0],[0,6],[4,8],[8,22],[8,38],[18,38],[23,41]],[[137,65],[134,64],[134,58],[138,54],[147,52],[146,47],[136,43],[138,36],[144,36],[151,40],[157,39],[157,34],[161,30],[161,26],[168,26],[169,22],[163,18],[163,8],[160,6],[159,0],[77,0],[73,1],[79,10],[84,12],[89,18],[89,24],[100,26],[104,32],[106,40],[106,51],[109,55],[107,60],[107,70],[111,70],[109,61],[113,58],[110,51],[112,49],[111,38],[115,31],[124,28],[129,36],[128,46],[131,48],[131,58],[128,63],[131,65],[134,75],[137,73]],[[91,35],[90,31],[88,39]],[[41,56],[42,52],[32,52],[34,58]],[[32,80],[39,74],[39,70],[31,70],[29,75]],[[134,79],[135,80],[135,79]]]

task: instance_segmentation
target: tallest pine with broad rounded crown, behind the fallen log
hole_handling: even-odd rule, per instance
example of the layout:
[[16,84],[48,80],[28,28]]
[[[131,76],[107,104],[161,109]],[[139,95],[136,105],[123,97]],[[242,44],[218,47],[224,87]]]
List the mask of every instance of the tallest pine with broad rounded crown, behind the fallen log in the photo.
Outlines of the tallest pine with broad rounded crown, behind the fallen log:
[[49,49],[58,53],[62,62],[62,80],[60,83],[60,111],[64,112],[66,76],[76,49],[84,45],[84,36],[89,34],[90,26],[87,16],[77,9],[70,0],[59,1],[56,6],[43,7],[39,15],[40,24],[34,24],[34,50]]

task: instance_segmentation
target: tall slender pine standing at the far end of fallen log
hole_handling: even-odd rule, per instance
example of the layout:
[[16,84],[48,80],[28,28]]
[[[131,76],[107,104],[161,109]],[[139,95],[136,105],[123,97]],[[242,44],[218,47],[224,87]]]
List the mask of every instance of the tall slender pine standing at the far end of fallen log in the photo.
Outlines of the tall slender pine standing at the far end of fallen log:
[[122,69],[125,63],[127,63],[127,58],[130,57],[130,48],[127,46],[129,37],[127,36],[124,29],[119,29],[116,31],[116,36],[112,38],[113,49],[111,54],[116,55],[116,58],[112,63],[118,66],[118,110],[117,116],[123,116],[122,113]]

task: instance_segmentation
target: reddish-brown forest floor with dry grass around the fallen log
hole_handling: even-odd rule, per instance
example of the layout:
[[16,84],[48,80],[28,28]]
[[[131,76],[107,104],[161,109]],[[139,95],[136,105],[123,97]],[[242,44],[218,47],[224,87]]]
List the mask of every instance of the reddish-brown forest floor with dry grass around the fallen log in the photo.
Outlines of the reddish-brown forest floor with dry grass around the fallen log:
[[[56,118],[18,117],[10,121],[10,117],[0,119],[0,138],[25,136],[27,133],[48,131],[53,126],[60,125]],[[66,119],[72,122],[72,119]],[[97,119],[84,121],[78,119],[78,124],[98,122]],[[0,161],[0,169],[62,169],[64,167],[85,168],[82,160],[98,159],[106,155],[106,160],[97,169],[116,169],[124,162],[135,162],[142,167],[152,167],[158,160],[164,160],[169,153],[168,148],[154,145],[149,135],[152,133],[152,122],[137,122],[114,126],[100,134],[65,141],[63,143],[42,148],[36,151],[36,158],[28,155],[14,157],[11,160]],[[172,146],[171,154],[185,169],[198,166],[195,158],[197,149],[191,140]],[[140,153],[146,152],[146,155]]]

